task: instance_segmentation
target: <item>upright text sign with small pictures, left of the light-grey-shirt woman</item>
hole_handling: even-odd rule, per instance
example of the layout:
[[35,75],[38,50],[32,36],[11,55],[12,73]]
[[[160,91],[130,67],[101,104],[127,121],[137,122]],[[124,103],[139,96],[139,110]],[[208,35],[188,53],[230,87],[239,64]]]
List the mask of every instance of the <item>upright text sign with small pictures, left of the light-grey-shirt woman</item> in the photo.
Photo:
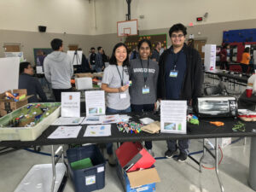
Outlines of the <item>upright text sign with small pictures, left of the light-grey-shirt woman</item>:
[[105,114],[104,90],[85,91],[86,116]]

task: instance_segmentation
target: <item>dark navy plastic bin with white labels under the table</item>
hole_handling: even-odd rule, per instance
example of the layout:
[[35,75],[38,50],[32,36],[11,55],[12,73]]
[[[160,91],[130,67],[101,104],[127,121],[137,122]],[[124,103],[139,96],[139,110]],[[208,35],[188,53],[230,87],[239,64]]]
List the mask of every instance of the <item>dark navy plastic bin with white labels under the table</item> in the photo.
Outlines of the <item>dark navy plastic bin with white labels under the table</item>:
[[[73,170],[71,163],[77,160],[90,158],[92,167]],[[67,150],[68,170],[76,192],[93,191],[105,186],[106,160],[96,145],[87,145],[81,148]]]

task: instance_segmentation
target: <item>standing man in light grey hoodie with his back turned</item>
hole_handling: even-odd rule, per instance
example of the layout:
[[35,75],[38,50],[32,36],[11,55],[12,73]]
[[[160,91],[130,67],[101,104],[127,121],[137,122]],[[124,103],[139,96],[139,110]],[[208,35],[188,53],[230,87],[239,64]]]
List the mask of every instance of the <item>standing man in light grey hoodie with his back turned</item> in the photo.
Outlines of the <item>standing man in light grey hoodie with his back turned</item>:
[[63,52],[62,40],[55,38],[50,42],[53,52],[44,59],[44,75],[52,85],[56,102],[61,102],[61,92],[72,91],[70,79],[73,76],[73,64]]

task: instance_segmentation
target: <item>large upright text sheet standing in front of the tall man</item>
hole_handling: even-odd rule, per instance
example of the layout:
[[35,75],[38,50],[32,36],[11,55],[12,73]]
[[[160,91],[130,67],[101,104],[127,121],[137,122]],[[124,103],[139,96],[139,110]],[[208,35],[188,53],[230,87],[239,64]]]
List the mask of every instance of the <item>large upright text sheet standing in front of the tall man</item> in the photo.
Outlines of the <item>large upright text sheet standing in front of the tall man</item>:
[[160,103],[161,132],[187,133],[187,101],[165,101]]

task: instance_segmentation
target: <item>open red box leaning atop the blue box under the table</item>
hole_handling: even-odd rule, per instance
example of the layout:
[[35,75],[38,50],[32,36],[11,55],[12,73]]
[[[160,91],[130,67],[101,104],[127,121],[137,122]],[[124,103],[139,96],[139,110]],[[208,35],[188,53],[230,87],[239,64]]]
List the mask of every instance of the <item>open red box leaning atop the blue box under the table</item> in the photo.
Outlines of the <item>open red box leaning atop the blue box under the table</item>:
[[154,157],[143,148],[142,143],[123,143],[115,151],[120,166],[126,172],[137,171],[141,168],[147,169],[154,165]]

